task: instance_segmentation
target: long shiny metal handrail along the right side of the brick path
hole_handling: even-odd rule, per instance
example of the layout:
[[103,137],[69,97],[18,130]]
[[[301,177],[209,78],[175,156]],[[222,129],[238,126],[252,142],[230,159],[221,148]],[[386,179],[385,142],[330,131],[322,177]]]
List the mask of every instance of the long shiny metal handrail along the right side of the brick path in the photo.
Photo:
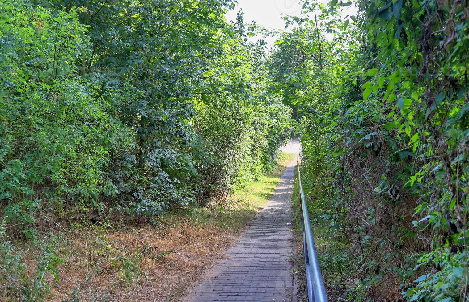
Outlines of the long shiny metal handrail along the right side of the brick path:
[[310,225],[310,215],[306,206],[303,186],[301,184],[300,165],[296,161],[298,168],[298,182],[300,187],[300,208],[301,225],[303,229],[303,251],[306,271],[306,288],[308,289],[309,302],[327,302],[324,281],[322,279],[321,269],[319,267],[318,253],[314,244],[313,231]]

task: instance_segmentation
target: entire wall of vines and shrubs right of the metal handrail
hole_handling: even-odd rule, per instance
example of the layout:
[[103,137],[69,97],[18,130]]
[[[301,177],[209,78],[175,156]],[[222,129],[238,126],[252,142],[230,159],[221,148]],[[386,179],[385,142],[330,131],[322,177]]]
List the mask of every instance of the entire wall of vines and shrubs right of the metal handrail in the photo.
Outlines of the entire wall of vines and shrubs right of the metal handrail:
[[306,4],[276,50],[305,53],[284,76],[304,182],[353,264],[329,284],[353,301],[465,301],[467,3],[362,1],[345,22],[339,5]]

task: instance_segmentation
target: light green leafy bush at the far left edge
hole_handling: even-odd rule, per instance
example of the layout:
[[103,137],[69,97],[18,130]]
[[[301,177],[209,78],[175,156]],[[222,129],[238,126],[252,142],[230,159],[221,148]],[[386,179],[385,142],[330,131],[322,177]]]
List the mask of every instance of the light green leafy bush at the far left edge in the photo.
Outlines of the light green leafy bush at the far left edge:
[[64,194],[88,205],[114,194],[102,169],[129,145],[130,131],[106,113],[97,87],[74,74],[89,50],[75,12],[52,15],[8,1],[1,12],[0,199],[7,223],[29,238],[44,198]]

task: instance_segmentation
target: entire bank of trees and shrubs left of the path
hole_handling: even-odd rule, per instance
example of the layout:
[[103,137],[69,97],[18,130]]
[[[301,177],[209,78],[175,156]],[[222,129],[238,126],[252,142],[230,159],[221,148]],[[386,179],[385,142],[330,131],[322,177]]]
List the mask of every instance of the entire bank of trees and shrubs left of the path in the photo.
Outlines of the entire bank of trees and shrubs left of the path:
[[267,90],[265,47],[246,42],[241,16],[226,22],[230,7],[2,2],[0,296],[35,299],[15,286],[30,276],[10,282],[25,264],[7,235],[37,240],[45,217],[99,224],[206,205],[275,162],[290,109]]

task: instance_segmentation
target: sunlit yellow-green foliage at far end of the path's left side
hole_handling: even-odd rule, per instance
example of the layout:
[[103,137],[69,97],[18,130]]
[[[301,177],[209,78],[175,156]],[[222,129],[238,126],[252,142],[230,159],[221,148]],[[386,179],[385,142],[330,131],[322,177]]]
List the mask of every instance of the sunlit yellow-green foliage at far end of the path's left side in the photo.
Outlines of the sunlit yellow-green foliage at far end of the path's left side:
[[213,92],[200,98],[192,120],[202,141],[200,205],[258,180],[291,134],[291,109],[268,91],[265,47],[245,41],[234,36],[205,73]]

